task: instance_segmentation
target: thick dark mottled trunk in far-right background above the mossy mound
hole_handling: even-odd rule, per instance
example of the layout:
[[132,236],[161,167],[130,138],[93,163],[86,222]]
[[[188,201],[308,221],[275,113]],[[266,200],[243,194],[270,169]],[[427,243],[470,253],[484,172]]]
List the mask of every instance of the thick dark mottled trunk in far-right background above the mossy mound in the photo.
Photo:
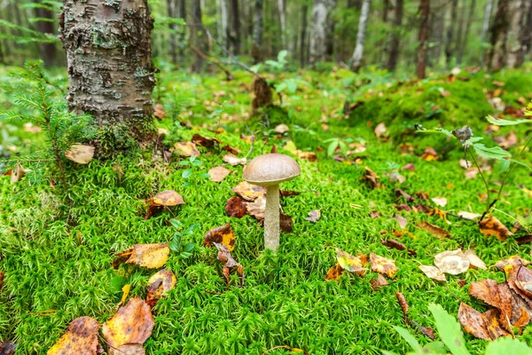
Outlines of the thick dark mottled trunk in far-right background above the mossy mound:
[[510,28],[510,0],[499,0],[493,24],[489,28],[490,48],[486,56],[486,67],[489,70],[500,70],[505,67],[507,55],[507,37]]

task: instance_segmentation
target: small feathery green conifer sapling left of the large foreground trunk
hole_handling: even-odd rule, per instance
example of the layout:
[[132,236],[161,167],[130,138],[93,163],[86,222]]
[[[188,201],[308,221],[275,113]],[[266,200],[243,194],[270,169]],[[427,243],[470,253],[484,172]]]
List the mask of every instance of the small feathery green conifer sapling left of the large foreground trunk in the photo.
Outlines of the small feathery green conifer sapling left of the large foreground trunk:
[[51,171],[51,179],[59,178],[66,190],[65,152],[74,144],[95,138],[97,131],[91,125],[89,115],[76,115],[68,111],[64,99],[57,91],[61,87],[43,71],[42,61],[27,62],[24,68],[13,73],[19,78],[20,87],[14,94],[18,110],[0,112],[0,120],[32,122],[40,126],[46,135],[46,147],[35,154],[17,157],[8,165],[21,165],[31,170],[30,184],[39,182],[45,168]]

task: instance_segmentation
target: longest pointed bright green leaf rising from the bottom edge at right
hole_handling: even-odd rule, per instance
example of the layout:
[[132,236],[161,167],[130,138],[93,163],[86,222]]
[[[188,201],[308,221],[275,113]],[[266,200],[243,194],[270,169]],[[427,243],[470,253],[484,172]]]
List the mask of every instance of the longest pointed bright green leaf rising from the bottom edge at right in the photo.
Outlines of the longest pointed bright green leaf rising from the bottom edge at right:
[[433,313],[438,334],[450,352],[453,355],[471,355],[465,347],[464,334],[457,319],[454,319],[440,304],[429,304],[428,309]]

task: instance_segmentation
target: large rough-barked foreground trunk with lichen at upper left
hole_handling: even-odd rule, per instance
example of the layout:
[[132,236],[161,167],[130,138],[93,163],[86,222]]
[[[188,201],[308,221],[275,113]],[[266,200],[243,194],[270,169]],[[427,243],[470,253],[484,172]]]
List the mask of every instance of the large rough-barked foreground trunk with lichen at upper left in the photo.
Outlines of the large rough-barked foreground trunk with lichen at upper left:
[[128,137],[140,143],[153,138],[153,19],[147,0],[65,0],[59,23],[68,105],[75,113],[92,114],[108,133],[100,156],[130,148],[121,143]]

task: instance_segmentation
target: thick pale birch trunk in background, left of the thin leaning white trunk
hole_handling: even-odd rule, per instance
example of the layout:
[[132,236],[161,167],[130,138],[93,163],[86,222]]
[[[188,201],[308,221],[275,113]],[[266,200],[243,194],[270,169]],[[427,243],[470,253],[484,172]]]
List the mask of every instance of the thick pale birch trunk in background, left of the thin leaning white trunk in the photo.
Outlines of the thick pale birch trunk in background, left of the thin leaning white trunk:
[[310,28],[309,63],[325,60],[327,21],[334,3],[332,0],[314,0],[312,4],[312,24]]

